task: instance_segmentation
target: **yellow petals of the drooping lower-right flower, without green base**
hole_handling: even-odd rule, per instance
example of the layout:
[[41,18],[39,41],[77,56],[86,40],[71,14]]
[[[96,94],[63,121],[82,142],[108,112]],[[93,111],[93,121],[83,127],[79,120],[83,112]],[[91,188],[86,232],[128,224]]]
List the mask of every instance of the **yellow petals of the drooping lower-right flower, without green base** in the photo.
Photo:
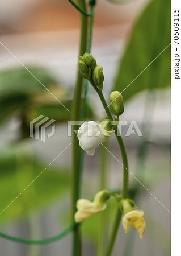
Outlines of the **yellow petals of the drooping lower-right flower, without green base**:
[[142,239],[146,227],[145,220],[142,217],[143,215],[144,212],[138,210],[132,210],[131,212],[125,214],[122,221],[125,233],[128,232],[129,225],[131,225],[133,229],[138,230],[139,236]]

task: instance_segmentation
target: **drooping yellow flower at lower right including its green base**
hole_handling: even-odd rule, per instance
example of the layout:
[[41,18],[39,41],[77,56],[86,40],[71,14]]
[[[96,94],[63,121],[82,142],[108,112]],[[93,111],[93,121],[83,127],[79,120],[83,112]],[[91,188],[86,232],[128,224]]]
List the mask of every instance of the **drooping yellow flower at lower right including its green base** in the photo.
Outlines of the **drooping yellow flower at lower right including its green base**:
[[120,201],[120,210],[123,212],[123,228],[125,233],[129,230],[129,225],[132,226],[133,229],[138,231],[140,238],[142,239],[145,233],[146,223],[142,216],[144,216],[144,212],[142,210],[136,210],[136,206],[131,199],[123,199]]

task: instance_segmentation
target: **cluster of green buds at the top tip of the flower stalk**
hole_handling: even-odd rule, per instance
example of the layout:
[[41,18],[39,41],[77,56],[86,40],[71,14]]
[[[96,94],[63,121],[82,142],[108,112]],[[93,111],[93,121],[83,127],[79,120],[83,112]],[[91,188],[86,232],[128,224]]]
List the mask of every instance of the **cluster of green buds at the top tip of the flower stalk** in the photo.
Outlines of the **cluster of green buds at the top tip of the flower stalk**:
[[97,65],[95,58],[89,53],[79,56],[78,59],[79,71],[82,77],[89,80],[90,83],[94,84],[99,90],[102,90],[104,81],[102,66]]

